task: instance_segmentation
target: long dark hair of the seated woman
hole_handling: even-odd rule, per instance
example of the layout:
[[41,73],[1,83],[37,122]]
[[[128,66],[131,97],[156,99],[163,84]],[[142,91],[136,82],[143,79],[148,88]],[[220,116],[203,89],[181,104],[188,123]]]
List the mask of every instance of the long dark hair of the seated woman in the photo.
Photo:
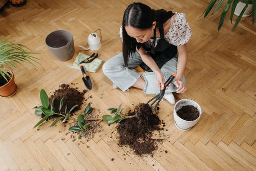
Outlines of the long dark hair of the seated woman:
[[142,3],[133,3],[129,5],[123,14],[122,23],[122,39],[123,39],[123,59],[125,66],[128,66],[129,56],[133,56],[136,52],[136,47],[141,44],[136,42],[136,39],[130,37],[125,26],[131,26],[137,29],[148,29],[152,27],[153,22],[157,22],[156,27],[162,25],[173,15],[172,11],[154,10]]

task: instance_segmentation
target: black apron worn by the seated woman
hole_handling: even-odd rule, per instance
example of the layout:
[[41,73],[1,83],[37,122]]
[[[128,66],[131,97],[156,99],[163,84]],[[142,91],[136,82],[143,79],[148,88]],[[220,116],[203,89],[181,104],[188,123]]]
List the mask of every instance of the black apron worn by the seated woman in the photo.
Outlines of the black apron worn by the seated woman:
[[[169,42],[164,39],[164,31],[163,31],[162,24],[160,25],[159,32],[160,32],[160,39],[155,48],[145,46],[145,43],[142,44],[142,47],[145,49],[145,51],[148,54],[152,56],[157,66],[161,69],[164,63],[172,59],[177,54],[177,46],[169,44]],[[156,39],[156,33],[154,30],[154,40],[155,39]],[[152,46],[155,46],[154,44],[155,44],[155,41]],[[150,67],[145,65],[145,63],[142,63],[140,67],[145,71],[152,72]]]

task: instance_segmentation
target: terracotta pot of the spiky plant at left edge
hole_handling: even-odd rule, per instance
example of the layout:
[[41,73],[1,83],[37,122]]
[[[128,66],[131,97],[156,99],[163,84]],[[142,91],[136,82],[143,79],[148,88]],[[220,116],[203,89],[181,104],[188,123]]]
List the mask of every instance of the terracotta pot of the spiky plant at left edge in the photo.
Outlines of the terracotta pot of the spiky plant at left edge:
[[7,72],[9,72],[12,77],[9,80],[9,82],[7,82],[4,86],[0,87],[0,96],[2,97],[10,97],[13,96],[16,91],[17,91],[17,86],[14,82],[14,74],[11,70],[6,70]]

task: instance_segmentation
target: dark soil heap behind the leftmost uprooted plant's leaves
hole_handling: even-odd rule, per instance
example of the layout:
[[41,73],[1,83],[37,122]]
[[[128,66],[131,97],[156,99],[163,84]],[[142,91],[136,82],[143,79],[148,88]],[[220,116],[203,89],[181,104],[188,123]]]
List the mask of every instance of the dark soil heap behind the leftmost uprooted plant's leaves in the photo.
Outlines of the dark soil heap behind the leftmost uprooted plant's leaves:
[[79,92],[77,88],[71,88],[69,84],[61,84],[59,86],[59,89],[54,92],[53,95],[49,98],[50,104],[52,104],[52,99],[55,96],[54,101],[54,110],[56,112],[59,112],[59,102],[62,97],[64,97],[63,105],[61,108],[61,113],[65,114],[65,105],[68,104],[67,112],[74,106],[78,105],[72,112],[75,113],[76,111],[79,111],[81,109],[81,105],[83,104],[84,97],[83,95],[86,93],[86,90],[83,90],[82,92]]

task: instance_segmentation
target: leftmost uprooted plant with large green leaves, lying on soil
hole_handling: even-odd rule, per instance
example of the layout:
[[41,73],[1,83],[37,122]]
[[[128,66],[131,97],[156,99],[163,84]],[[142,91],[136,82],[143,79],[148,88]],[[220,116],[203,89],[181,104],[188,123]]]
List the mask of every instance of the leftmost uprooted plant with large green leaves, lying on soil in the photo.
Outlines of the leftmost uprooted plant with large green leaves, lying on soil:
[[41,104],[39,107],[33,108],[35,110],[35,115],[37,116],[42,116],[44,115],[44,117],[42,117],[42,119],[37,122],[34,126],[37,127],[39,126],[41,123],[45,122],[49,117],[55,115],[57,118],[51,123],[50,127],[55,125],[59,120],[62,120],[62,122],[66,122],[69,117],[70,117],[70,113],[76,108],[77,104],[74,105],[69,112],[67,112],[67,108],[68,108],[68,104],[66,103],[65,105],[65,113],[61,113],[61,109],[63,106],[63,101],[64,98],[61,98],[60,102],[59,102],[59,113],[57,113],[54,109],[54,102],[55,102],[55,97],[53,97],[52,99],[52,103],[51,103],[51,108],[49,109],[49,98],[48,95],[46,93],[46,91],[44,89],[41,89],[40,91],[40,100],[41,100]]

